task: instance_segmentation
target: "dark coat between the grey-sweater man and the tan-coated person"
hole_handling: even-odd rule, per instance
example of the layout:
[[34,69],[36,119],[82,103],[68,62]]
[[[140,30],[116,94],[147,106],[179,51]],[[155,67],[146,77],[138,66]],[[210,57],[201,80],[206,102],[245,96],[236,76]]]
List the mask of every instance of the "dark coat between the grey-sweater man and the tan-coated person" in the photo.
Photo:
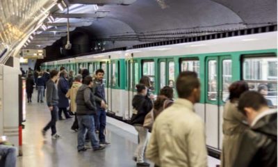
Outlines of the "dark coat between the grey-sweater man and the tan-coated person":
[[67,91],[69,90],[69,83],[67,82],[67,79],[65,77],[60,77],[58,81],[58,96],[59,96],[59,108],[67,108],[70,106],[69,100],[65,95],[67,94]]

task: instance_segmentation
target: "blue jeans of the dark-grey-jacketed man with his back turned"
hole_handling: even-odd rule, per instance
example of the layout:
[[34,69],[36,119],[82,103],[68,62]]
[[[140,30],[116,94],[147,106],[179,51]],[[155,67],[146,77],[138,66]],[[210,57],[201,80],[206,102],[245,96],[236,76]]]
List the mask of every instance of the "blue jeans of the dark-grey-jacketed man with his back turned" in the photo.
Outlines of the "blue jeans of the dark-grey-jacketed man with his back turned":
[[77,116],[79,122],[79,129],[77,135],[77,150],[81,150],[85,145],[85,131],[88,129],[88,136],[90,138],[92,148],[99,148],[99,141],[97,140],[97,135],[95,134],[95,121],[94,116],[84,115]]

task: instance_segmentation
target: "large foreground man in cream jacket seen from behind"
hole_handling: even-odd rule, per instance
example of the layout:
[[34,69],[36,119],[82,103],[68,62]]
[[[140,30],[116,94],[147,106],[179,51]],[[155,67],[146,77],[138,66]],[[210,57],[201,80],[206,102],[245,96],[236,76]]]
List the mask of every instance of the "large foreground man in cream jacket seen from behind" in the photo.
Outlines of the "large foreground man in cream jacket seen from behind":
[[204,122],[193,107],[200,99],[197,73],[181,72],[176,84],[179,99],[154,121],[146,157],[161,167],[205,167]]

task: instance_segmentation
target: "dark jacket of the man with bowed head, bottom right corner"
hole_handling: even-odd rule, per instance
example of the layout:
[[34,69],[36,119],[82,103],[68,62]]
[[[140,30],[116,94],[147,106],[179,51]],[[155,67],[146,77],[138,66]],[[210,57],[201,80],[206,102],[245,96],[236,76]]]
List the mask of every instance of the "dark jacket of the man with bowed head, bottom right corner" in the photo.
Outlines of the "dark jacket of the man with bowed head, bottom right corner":
[[256,116],[238,147],[234,167],[277,166],[277,111]]

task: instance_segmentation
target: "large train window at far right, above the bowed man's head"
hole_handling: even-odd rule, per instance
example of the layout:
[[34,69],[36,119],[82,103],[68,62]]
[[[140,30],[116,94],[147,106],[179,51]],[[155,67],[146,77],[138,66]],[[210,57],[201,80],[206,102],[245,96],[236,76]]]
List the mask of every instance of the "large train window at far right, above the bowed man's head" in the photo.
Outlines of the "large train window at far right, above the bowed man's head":
[[260,90],[269,106],[277,106],[277,58],[244,58],[243,79],[250,90]]

